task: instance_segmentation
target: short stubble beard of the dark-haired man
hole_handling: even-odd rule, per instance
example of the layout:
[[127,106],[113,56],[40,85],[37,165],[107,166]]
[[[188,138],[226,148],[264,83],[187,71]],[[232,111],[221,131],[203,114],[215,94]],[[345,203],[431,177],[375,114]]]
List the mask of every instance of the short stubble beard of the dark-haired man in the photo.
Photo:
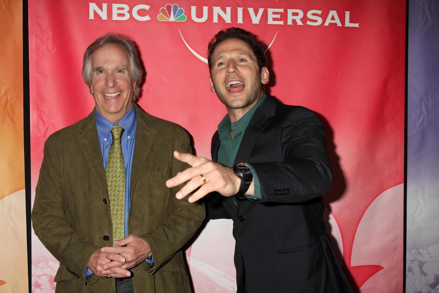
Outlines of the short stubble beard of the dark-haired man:
[[234,101],[227,100],[226,94],[224,91],[227,91],[223,85],[218,86],[216,83],[213,83],[213,88],[215,89],[216,96],[228,109],[244,109],[248,108],[248,106],[252,105],[254,101],[259,99],[262,89],[261,83],[261,74],[257,74],[252,81],[248,84],[245,84],[246,87],[249,87],[248,94],[245,97],[245,100],[240,103],[234,103]]

